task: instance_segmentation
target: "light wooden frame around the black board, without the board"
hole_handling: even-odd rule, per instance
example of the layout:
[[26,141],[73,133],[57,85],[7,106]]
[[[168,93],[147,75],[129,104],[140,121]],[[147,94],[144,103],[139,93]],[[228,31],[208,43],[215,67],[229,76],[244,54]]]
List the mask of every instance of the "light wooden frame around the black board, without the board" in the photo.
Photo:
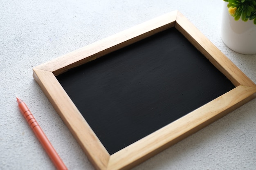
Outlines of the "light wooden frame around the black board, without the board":
[[[109,155],[56,79],[64,73],[124,46],[175,27],[236,86],[193,112]],[[98,170],[129,169],[256,97],[256,84],[240,71],[180,12],[139,24],[33,68],[33,77]],[[69,114],[69,113],[72,113]]]

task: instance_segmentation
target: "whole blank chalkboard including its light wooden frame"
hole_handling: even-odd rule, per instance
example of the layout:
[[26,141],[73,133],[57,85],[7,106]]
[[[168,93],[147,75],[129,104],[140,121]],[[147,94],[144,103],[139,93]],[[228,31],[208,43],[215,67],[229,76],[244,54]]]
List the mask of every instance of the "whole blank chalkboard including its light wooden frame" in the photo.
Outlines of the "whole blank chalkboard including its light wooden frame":
[[136,166],[256,97],[179,11],[33,68],[98,170]]

